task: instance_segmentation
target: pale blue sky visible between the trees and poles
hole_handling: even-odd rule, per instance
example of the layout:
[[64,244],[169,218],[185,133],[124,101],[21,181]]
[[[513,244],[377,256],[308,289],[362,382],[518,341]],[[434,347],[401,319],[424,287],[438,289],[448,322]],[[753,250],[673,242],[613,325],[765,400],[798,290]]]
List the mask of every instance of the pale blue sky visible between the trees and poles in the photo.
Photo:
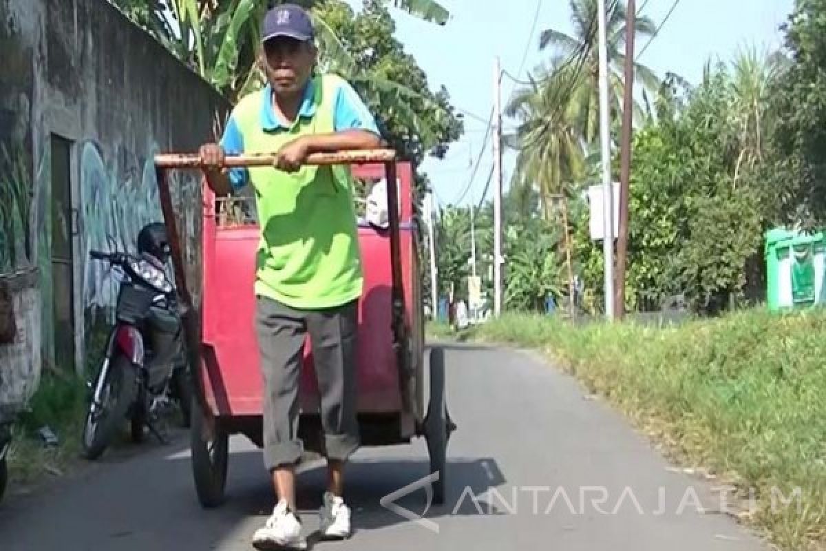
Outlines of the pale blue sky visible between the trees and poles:
[[[637,0],[638,6],[646,0]],[[657,74],[676,72],[697,82],[709,58],[728,60],[743,45],[776,47],[781,45],[778,26],[791,12],[793,0],[681,0],[659,36],[653,40],[640,61]],[[358,7],[360,0],[349,0]],[[444,84],[453,104],[481,117],[466,116],[466,134],[451,145],[444,160],[428,160],[423,167],[434,182],[440,202],[455,202],[471,176],[485,135],[487,116],[493,102],[493,59],[501,58],[502,69],[516,74],[527,51],[522,74],[541,63],[547,54],[539,52],[539,32],[553,27],[570,33],[571,11],[567,0],[541,0],[534,36],[529,36],[537,0],[442,0],[451,12],[446,26],[434,26],[403,12],[394,11],[396,36],[415,55],[425,69],[431,88]],[[648,0],[643,15],[659,24],[672,7],[673,0]],[[487,6],[487,7],[486,7]],[[494,7],[496,6],[496,7]],[[638,45],[641,48],[642,45]],[[638,50],[639,51],[639,50]],[[503,104],[515,88],[507,77],[502,80]],[[508,126],[509,121],[503,121]],[[515,154],[506,152],[504,183],[513,167]],[[478,202],[490,173],[490,143],[485,146],[482,163],[463,203]],[[490,192],[488,192],[490,196]]]

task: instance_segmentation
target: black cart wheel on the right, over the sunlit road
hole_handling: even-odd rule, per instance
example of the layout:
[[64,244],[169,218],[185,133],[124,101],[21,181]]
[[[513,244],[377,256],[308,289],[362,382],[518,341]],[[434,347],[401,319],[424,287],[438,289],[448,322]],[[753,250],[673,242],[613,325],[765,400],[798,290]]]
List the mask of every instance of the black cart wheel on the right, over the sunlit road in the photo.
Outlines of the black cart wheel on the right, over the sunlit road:
[[430,350],[430,402],[425,416],[425,439],[430,454],[430,473],[439,473],[439,478],[432,485],[433,501],[436,505],[444,504],[447,447],[450,432],[453,430],[444,387],[444,349],[434,348]]

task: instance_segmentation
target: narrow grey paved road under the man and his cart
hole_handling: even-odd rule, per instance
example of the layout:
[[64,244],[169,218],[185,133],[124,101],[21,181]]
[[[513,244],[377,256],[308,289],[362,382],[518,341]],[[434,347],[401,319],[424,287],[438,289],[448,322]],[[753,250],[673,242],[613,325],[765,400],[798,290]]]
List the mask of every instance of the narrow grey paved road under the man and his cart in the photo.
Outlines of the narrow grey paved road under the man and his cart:
[[[316,549],[762,549],[705,482],[674,473],[600,401],[527,354],[448,350],[449,498],[425,527],[379,505],[427,474],[424,442],[359,452],[349,476],[354,539]],[[258,450],[233,442],[230,498],[202,511],[183,443],[112,460],[39,496],[0,507],[5,551],[238,551],[272,507]],[[306,530],[315,530],[324,471],[301,475]],[[421,511],[424,492],[399,503]],[[556,499],[554,500],[554,496]],[[682,503],[682,507],[681,507]],[[607,514],[603,514],[603,512]],[[680,514],[678,514],[678,512]],[[431,530],[434,526],[438,532]]]

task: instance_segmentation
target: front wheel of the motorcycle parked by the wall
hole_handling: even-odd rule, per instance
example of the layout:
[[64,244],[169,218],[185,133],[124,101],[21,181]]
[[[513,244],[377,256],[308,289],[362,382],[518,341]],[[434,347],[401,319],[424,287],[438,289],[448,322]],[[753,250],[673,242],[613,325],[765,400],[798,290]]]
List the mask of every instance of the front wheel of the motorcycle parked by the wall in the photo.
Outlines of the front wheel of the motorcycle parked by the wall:
[[126,413],[135,397],[136,387],[135,366],[125,356],[117,354],[107,369],[99,408],[93,413],[90,405],[86,414],[81,441],[84,458],[99,458],[112,443],[121,423],[126,420]]

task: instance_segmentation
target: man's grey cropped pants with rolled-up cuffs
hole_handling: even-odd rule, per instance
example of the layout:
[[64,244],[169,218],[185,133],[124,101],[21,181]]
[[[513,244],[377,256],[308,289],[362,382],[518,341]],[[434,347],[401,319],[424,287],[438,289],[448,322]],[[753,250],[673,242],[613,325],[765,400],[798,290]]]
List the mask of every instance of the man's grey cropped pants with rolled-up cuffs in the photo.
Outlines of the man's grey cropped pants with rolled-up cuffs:
[[356,418],[358,302],[329,310],[295,310],[258,297],[255,326],[264,378],[263,458],[274,468],[297,463],[298,383],[306,335],[310,335],[320,393],[325,456],[346,461],[359,445]]

